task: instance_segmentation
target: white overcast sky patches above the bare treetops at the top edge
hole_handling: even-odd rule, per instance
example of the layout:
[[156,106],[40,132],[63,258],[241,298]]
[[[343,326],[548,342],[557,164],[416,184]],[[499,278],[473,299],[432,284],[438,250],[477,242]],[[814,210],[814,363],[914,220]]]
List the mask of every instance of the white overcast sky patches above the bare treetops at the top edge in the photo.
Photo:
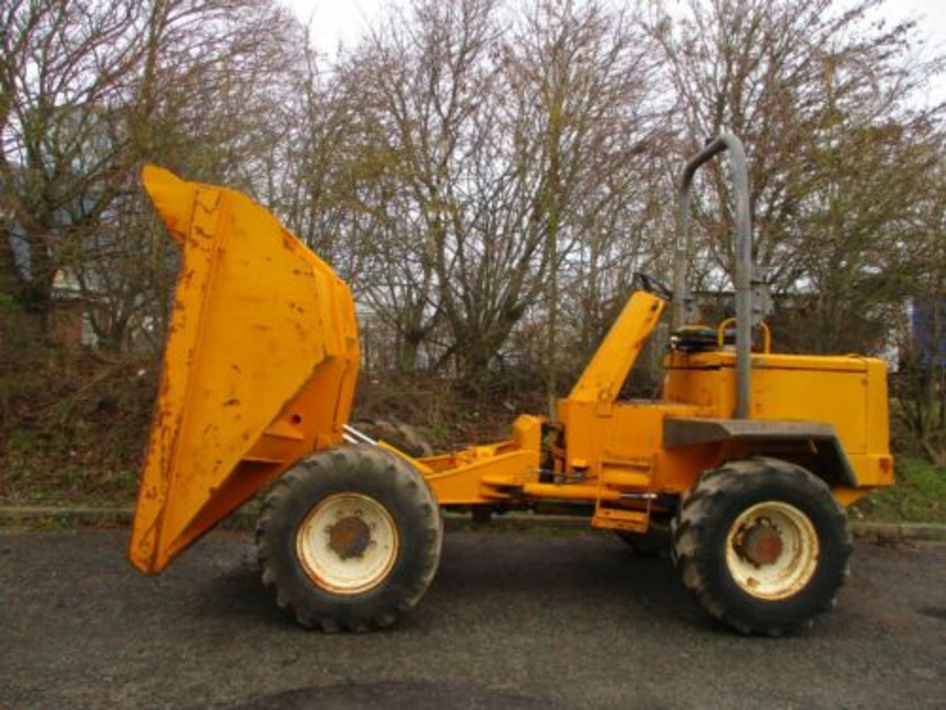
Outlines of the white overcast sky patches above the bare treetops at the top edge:
[[[312,38],[320,52],[332,55],[339,44],[359,41],[391,0],[284,0],[306,24],[312,20]],[[682,0],[669,0],[679,4]],[[931,47],[946,51],[946,0],[886,0],[880,13],[891,22],[916,17],[920,35]],[[940,75],[929,98],[946,100],[946,76]]]

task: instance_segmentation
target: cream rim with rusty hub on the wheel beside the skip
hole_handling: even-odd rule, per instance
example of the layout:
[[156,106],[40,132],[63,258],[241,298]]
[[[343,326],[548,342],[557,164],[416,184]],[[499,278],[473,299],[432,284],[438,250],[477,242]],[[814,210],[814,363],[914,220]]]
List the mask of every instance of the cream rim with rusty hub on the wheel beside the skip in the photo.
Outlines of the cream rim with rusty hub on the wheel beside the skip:
[[338,595],[377,587],[397,558],[397,526],[374,498],[336,493],[312,508],[296,533],[308,577]]

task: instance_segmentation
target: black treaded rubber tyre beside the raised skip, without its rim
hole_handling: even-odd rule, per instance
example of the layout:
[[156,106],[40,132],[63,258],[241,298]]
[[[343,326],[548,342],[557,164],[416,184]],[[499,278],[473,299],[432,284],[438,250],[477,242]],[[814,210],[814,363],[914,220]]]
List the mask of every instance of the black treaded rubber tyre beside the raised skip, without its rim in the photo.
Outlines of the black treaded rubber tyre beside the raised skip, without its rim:
[[[320,588],[296,553],[298,526],[328,495],[372,496],[392,515],[400,540],[394,565],[379,584],[356,595]],[[427,591],[443,544],[436,498],[406,461],[380,449],[339,447],[313,454],[273,486],[255,532],[263,585],[276,605],[309,629],[326,633],[389,627]]]

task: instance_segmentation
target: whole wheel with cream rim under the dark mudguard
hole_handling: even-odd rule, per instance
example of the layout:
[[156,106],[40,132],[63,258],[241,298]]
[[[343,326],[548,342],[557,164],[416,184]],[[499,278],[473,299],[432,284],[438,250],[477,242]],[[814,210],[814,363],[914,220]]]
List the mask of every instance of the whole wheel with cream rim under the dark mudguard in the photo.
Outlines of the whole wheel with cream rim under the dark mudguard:
[[774,458],[703,474],[674,521],[674,561],[704,610],[780,636],[828,611],[853,547],[844,509],[808,470]]

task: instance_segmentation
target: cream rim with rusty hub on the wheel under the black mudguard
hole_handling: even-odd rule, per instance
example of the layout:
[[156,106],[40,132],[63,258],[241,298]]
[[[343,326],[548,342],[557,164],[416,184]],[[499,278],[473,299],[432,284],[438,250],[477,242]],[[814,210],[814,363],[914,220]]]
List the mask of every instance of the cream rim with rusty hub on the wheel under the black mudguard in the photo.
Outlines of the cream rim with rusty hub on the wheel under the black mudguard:
[[749,595],[768,600],[795,595],[815,575],[815,525],[787,503],[756,504],[729,527],[726,563],[736,584]]

